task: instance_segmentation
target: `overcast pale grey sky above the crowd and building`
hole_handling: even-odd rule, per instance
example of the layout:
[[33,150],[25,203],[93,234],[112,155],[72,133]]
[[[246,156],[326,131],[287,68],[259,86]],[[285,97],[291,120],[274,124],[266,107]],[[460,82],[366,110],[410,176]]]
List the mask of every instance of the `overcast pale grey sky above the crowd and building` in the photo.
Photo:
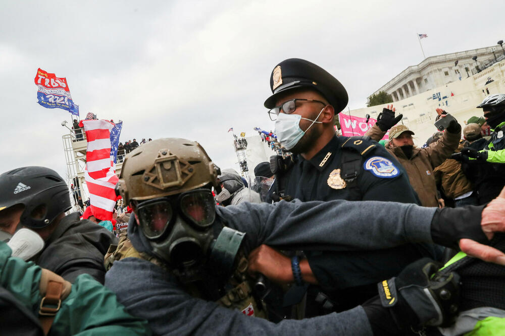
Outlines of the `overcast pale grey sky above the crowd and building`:
[[[494,4],[494,5],[493,5]],[[230,127],[272,129],[263,107],[280,61],[310,60],[347,89],[350,109],[426,56],[505,39],[502,0],[2,1],[0,172],[65,176],[62,109],[37,104],[38,68],[66,77],[81,118],[123,120],[121,141],[200,142],[235,167]]]

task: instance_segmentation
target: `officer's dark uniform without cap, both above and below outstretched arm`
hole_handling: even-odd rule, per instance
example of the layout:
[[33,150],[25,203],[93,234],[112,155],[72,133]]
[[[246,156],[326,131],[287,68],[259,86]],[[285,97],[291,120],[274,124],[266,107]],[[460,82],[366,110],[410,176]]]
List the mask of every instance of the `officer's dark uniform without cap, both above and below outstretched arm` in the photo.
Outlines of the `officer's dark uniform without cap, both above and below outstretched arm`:
[[[354,164],[359,168],[357,176],[350,182],[344,180],[343,173],[343,162],[349,160],[349,155],[350,160],[359,161]],[[291,168],[279,176],[285,194],[292,198],[420,204],[405,169],[383,146],[367,138],[334,137],[311,160],[295,156],[293,161]],[[377,282],[396,276],[419,258],[437,258],[439,252],[430,244],[408,244],[376,251],[306,251],[312,272],[326,296],[322,300],[319,298],[321,304],[315,303],[315,298],[322,294],[317,288],[311,288],[309,297],[312,300],[307,301],[306,316],[359,305],[377,294]]]

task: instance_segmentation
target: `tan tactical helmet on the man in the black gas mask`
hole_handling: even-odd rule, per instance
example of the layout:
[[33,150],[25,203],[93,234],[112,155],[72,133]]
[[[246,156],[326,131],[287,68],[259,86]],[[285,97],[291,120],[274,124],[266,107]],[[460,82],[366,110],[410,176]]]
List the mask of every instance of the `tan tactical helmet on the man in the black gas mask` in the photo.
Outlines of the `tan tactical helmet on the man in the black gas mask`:
[[208,184],[217,190],[220,169],[197,142],[166,138],[128,154],[116,185],[126,204],[179,194]]

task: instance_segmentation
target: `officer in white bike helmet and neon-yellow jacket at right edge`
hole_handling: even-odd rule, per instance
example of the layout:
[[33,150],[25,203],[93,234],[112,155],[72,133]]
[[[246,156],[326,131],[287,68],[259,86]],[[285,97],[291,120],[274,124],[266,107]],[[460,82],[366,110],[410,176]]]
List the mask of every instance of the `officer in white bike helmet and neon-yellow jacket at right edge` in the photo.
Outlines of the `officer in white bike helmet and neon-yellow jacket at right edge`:
[[486,204],[505,185],[505,95],[489,95],[477,107],[491,127],[491,138],[471,144],[455,158],[464,161],[463,171],[474,182],[478,204]]

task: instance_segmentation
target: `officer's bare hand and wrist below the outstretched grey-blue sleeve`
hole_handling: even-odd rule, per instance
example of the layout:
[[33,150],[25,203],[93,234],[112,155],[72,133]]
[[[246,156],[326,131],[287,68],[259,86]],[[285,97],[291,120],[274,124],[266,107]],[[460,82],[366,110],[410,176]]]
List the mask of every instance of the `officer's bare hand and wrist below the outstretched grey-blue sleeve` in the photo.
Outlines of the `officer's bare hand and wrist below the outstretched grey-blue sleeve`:
[[[248,271],[251,275],[261,273],[278,284],[294,282],[291,259],[272,247],[260,245],[249,253],[248,259]],[[300,261],[300,271],[304,282],[317,284],[307,259]]]

